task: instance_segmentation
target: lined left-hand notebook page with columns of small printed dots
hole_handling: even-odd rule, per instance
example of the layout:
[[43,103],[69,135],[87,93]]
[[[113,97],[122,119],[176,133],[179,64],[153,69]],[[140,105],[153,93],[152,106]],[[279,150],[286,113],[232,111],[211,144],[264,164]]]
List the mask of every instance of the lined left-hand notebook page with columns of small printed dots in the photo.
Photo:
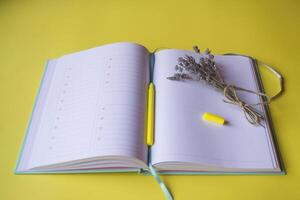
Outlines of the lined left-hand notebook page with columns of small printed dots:
[[117,43],[55,62],[27,168],[111,155],[146,162],[148,51]]

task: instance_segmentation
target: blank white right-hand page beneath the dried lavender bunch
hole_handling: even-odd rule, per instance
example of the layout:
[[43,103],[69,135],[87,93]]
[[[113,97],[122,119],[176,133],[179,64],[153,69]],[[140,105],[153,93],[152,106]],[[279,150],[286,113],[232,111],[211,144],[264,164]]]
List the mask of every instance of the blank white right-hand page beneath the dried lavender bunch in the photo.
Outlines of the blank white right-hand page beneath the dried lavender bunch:
[[[156,121],[152,162],[247,169],[275,167],[267,129],[251,125],[238,106],[224,103],[222,92],[204,83],[166,79],[173,75],[178,57],[187,54],[200,57],[179,50],[155,54]],[[215,61],[226,83],[257,91],[249,58],[216,56]],[[247,103],[259,101],[255,95],[239,95]],[[229,123],[218,126],[205,122],[201,118],[204,112],[223,116]]]

